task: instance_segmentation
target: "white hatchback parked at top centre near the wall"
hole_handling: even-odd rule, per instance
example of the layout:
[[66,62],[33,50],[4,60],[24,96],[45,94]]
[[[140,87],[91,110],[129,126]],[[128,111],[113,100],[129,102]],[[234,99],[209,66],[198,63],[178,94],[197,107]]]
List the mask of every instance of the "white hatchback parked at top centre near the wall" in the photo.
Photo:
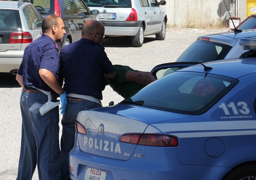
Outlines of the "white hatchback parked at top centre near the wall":
[[105,26],[106,37],[131,36],[141,47],[144,36],[164,40],[167,15],[165,0],[84,0],[90,9],[99,10],[98,20]]

